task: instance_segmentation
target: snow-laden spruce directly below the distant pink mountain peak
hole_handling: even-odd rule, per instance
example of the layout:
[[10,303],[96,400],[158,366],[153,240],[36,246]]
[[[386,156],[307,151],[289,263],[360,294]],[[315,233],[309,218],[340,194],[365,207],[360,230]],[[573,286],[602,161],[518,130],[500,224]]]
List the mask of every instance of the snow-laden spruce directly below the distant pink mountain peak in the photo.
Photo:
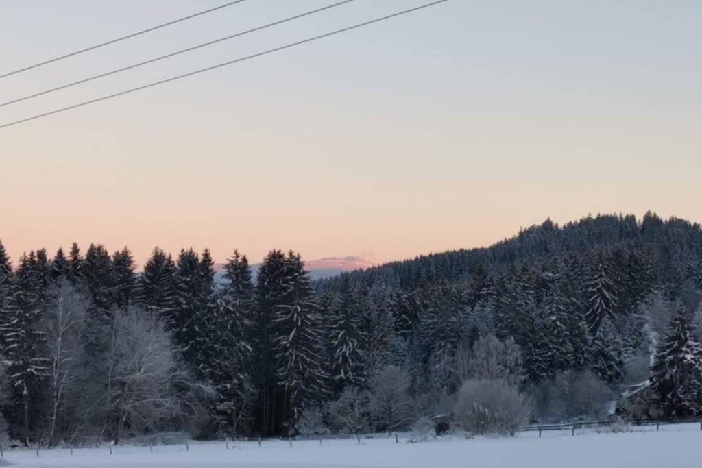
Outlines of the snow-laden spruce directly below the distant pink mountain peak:
[[363,303],[358,291],[348,281],[348,276],[342,279],[328,313],[331,377],[334,392],[340,394],[347,385],[362,387],[366,380],[363,347],[367,340],[363,329]]

